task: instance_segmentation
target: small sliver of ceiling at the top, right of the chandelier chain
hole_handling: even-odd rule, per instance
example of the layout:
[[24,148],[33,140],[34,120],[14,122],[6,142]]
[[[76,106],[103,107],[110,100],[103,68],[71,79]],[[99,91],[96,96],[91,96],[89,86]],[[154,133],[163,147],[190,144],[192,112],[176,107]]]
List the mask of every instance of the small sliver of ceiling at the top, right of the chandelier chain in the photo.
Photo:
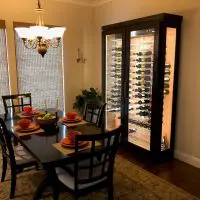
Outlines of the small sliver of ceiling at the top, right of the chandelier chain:
[[56,1],[85,5],[85,6],[98,6],[112,0],[56,0]]

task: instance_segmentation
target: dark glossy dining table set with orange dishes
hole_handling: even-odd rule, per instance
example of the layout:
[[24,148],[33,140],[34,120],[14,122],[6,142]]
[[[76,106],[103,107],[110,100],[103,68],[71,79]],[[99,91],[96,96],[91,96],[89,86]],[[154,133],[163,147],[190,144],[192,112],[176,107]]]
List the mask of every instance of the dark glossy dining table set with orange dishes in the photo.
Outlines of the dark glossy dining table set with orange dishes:
[[[48,109],[50,113],[55,113],[56,109]],[[38,186],[34,200],[38,200],[41,197],[41,193],[48,184],[54,184],[56,180],[55,167],[59,165],[63,160],[66,164],[73,163],[76,159],[76,155],[65,154],[54,147],[53,144],[59,143],[63,138],[67,137],[68,132],[71,129],[77,129],[82,134],[99,134],[102,129],[91,123],[81,124],[78,127],[68,128],[66,125],[59,123],[59,118],[65,116],[63,111],[57,112],[58,122],[55,126],[46,126],[43,133],[32,134],[26,136],[19,136],[15,133],[14,127],[17,125],[20,116],[17,114],[0,115],[6,124],[6,127],[10,134],[38,161],[42,168],[46,171],[46,178]],[[48,181],[47,181],[48,179]],[[46,186],[45,186],[46,183]],[[54,185],[56,187],[56,185]]]

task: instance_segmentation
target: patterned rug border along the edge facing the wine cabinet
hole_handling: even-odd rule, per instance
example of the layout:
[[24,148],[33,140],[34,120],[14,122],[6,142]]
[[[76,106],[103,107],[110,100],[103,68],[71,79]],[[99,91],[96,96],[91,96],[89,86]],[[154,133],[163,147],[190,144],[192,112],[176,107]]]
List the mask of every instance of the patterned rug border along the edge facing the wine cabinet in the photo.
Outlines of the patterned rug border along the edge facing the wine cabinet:
[[[187,195],[188,197],[193,198],[193,200],[200,200],[198,197],[196,197],[196,196],[190,194],[189,192],[183,190],[182,188],[180,188],[180,187],[178,187],[178,186],[176,186],[176,185],[174,185],[174,184],[172,184],[172,183],[170,183],[170,182],[168,182],[168,181],[166,181],[166,180],[160,178],[159,176],[157,176],[157,175],[155,175],[155,174],[153,174],[153,173],[151,173],[151,172],[145,170],[144,168],[139,167],[139,166],[136,165],[135,163],[130,162],[129,160],[123,158],[122,156],[117,155],[116,157],[119,157],[119,159],[124,160],[125,162],[127,162],[128,165],[130,165],[129,167],[131,167],[131,165],[134,165],[134,167],[135,167],[138,171],[142,171],[143,173],[145,173],[145,174],[147,174],[148,176],[150,176],[150,178],[153,177],[153,178],[156,179],[157,181],[162,182],[162,183],[165,183],[168,187],[171,187],[171,188],[173,188],[173,189],[175,189],[175,190],[177,190],[177,191],[179,191],[179,192],[181,192],[181,193]],[[116,164],[116,162],[115,162],[115,164]],[[117,170],[116,170],[116,171],[117,171]],[[126,176],[128,179],[130,179],[130,180],[135,180],[135,181],[139,182],[138,179],[136,180],[135,177],[133,177],[133,176],[132,176],[131,178],[129,178],[129,176],[128,176],[127,173],[124,173],[123,171],[119,171],[119,172],[120,172],[121,174],[123,174],[124,176]],[[142,183],[140,183],[140,184],[142,184],[143,187],[146,187],[147,189],[148,189],[149,186],[150,186],[150,185],[146,186],[146,184],[144,184],[144,182],[142,182]],[[155,189],[155,188],[152,188],[152,189]],[[158,192],[158,191],[156,191],[156,192]]]

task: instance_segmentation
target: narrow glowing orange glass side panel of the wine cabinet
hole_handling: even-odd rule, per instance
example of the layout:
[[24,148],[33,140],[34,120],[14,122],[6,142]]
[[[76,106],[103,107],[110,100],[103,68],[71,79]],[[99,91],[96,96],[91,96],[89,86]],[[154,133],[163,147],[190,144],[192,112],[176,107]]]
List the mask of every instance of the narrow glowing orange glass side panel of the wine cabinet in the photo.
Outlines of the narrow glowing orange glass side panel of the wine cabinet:
[[167,28],[161,150],[170,148],[176,29]]

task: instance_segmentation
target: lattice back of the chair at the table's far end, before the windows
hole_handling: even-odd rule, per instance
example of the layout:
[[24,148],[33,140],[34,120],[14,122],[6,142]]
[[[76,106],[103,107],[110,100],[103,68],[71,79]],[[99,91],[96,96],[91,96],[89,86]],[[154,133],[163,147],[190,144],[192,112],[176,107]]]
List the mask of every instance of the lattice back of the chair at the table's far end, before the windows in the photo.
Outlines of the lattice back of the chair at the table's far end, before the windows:
[[[24,106],[32,106],[31,93],[2,96],[5,114],[22,111]],[[18,110],[17,110],[18,109]]]

